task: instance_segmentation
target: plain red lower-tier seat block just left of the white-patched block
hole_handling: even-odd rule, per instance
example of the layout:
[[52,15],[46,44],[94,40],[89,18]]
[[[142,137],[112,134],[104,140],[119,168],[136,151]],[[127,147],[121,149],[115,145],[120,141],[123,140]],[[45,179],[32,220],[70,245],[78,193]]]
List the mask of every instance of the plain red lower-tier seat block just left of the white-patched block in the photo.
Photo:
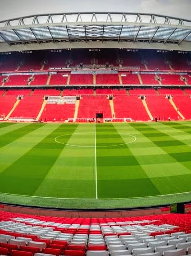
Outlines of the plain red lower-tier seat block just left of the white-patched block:
[[10,118],[36,118],[42,102],[41,96],[25,96],[24,99],[20,100]]

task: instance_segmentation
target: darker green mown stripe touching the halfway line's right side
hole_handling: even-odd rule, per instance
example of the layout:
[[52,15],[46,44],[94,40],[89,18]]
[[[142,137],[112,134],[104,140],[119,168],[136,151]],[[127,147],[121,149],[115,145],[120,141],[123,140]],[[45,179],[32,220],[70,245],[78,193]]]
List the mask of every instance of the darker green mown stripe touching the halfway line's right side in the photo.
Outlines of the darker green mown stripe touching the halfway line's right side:
[[[108,147],[107,150],[101,147],[111,139],[114,139],[114,147]],[[96,126],[96,143],[100,146],[97,147],[98,198],[160,194],[113,124]],[[113,157],[114,152],[121,154]]]

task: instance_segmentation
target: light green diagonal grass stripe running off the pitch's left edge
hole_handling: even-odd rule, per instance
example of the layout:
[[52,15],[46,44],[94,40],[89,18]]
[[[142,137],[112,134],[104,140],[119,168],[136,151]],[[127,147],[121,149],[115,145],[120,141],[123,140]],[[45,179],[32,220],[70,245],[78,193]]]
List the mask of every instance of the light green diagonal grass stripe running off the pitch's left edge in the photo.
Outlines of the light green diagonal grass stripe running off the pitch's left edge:
[[[22,124],[18,124],[19,126]],[[0,148],[0,172],[11,166],[60,124],[39,124],[38,129]],[[16,132],[16,131],[15,131]],[[17,171],[17,170],[15,170]],[[0,190],[1,191],[1,190]]]

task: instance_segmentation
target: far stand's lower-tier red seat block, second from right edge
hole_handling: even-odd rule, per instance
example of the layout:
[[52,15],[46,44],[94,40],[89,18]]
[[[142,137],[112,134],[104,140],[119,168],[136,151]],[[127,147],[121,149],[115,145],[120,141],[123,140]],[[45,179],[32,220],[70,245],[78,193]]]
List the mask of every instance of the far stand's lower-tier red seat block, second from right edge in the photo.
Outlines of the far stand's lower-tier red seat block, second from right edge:
[[165,99],[164,95],[158,95],[158,96],[147,96],[146,102],[148,105],[148,108],[150,110],[150,113],[155,118],[159,118],[160,120],[168,120],[170,117],[171,120],[177,120],[177,111],[173,108],[173,106],[170,104],[168,99]]

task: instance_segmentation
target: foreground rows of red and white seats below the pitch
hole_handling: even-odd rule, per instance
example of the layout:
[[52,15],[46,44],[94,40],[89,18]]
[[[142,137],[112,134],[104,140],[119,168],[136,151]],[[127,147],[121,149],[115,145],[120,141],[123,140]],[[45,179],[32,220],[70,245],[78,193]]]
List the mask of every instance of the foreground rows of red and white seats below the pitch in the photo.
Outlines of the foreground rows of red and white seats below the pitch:
[[[147,256],[162,256],[154,254],[154,251],[165,251],[164,255],[168,256],[182,256],[186,255],[186,251],[191,252],[191,214],[64,218],[0,211],[0,220],[1,238],[12,235],[16,241],[27,237],[32,239],[28,246],[20,247],[15,245],[15,239],[9,239],[8,243],[0,242],[0,253],[4,255],[10,253],[11,256],[13,249],[15,256],[28,256],[29,252],[30,256],[117,256],[131,253],[137,256],[138,251],[141,256],[146,251],[153,253]],[[173,254],[170,254],[172,249]],[[182,254],[178,254],[179,251]]]

